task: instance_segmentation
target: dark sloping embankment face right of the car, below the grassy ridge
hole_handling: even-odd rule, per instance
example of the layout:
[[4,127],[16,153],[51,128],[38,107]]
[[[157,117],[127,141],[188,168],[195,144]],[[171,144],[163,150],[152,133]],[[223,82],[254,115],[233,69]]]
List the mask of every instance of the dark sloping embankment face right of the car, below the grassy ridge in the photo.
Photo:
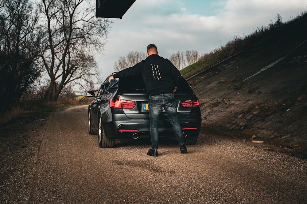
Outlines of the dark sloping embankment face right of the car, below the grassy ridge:
[[302,36],[263,41],[188,80],[201,102],[203,127],[306,153]]

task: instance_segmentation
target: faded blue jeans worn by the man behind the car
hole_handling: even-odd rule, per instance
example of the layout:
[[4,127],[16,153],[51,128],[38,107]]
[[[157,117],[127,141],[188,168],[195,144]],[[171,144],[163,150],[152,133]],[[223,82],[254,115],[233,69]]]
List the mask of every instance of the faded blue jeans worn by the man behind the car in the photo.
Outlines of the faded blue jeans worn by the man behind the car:
[[162,113],[162,107],[164,107],[169,122],[171,123],[175,135],[177,136],[178,143],[184,144],[184,136],[182,134],[181,125],[178,121],[176,98],[174,93],[159,94],[155,96],[149,96],[149,118],[150,118],[150,136],[151,146],[153,150],[158,149],[159,138],[159,120]]

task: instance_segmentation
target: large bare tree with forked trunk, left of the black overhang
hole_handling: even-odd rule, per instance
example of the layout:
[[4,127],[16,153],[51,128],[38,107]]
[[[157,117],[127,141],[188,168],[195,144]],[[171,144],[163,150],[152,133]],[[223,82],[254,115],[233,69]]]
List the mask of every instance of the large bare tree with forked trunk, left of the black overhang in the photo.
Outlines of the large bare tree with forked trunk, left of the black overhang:
[[103,50],[112,21],[95,17],[95,6],[86,0],[39,0],[45,40],[41,65],[50,83],[45,99],[57,100],[71,82],[82,87],[97,76],[94,54]]

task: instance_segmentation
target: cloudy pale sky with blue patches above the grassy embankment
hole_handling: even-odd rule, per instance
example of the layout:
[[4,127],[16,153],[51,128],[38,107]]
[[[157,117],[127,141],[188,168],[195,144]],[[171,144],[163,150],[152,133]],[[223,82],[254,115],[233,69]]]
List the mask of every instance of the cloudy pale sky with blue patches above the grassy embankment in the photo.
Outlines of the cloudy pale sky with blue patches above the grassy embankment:
[[103,80],[119,57],[157,46],[169,58],[178,51],[210,53],[234,37],[287,22],[307,11],[307,0],[136,0],[122,19],[112,19],[102,54],[95,55]]

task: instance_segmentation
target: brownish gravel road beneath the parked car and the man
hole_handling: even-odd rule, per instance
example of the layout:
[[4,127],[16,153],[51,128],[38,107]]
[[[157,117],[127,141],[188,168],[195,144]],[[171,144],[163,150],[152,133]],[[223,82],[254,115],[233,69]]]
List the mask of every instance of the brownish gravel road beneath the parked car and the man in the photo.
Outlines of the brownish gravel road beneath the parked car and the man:
[[87,106],[36,128],[16,148],[1,141],[0,203],[307,203],[306,160],[255,143],[202,130],[188,154],[174,138],[160,139],[159,157],[146,138],[101,149]]

